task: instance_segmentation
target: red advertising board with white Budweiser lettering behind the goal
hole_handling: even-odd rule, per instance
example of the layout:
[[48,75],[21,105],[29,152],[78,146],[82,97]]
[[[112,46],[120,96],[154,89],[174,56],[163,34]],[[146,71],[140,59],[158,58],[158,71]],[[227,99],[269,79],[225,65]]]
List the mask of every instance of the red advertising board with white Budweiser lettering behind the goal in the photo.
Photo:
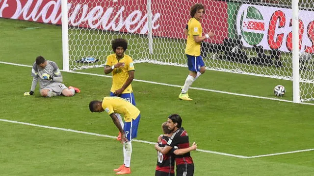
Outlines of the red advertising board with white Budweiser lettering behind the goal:
[[[85,1],[85,2],[84,2]],[[73,26],[147,34],[147,0],[69,0],[69,24]],[[70,3],[71,2],[71,3]],[[185,38],[189,9],[197,0],[152,0],[153,35]],[[201,0],[207,14],[204,32],[215,31],[211,42],[228,36],[227,3]],[[61,0],[0,0],[0,17],[61,24]]]

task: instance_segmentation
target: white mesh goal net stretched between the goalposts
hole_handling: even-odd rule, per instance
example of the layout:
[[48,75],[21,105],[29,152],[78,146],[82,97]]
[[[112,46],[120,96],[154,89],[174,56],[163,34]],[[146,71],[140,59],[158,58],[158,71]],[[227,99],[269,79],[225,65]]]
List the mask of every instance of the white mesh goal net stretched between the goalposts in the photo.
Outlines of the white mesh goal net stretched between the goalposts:
[[[149,2],[69,0],[70,69],[103,66],[111,41],[120,37],[129,41],[135,62],[187,66],[183,31],[190,7],[203,3],[203,32],[215,33],[202,42],[207,69],[292,80],[291,1],[152,0],[148,12]],[[300,0],[299,6],[300,93],[301,100],[312,100],[314,5]]]

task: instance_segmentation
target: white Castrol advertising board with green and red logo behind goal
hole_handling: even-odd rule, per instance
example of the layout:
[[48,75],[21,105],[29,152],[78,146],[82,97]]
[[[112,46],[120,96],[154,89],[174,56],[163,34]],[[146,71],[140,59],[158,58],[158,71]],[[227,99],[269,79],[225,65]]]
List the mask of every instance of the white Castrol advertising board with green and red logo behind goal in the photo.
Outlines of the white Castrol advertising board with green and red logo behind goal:
[[[236,13],[236,33],[246,47],[292,51],[292,9],[240,4]],[[314,12],[299,10],[299,48],[314,53]]]

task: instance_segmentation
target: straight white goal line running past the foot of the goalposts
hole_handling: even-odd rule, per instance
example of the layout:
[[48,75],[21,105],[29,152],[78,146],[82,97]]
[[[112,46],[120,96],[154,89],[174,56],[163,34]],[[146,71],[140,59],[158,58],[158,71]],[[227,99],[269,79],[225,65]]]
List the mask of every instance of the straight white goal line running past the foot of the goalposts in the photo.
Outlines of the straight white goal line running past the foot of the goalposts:
[[[22,65],[22,64],[14,64],[14,63],[1,62],[1,61],[0,61],[0,63],[1,64],[13,65],[13,66],[26,66],[26,65]],[[31,66],[26,66],[26,67],[31,67]],[[111,78],[111,76],[94,74],[94,73],[85,73],[85,72],[77,72],[77,71],[67,71],[67,72]],[[156,84],[156,85],[163,85],[163,86],[169,86],[169,87],[177,87],[177,88],[181,88],[182,87],[180,85],[172,85],[172,84],[166,84],[166,83],[157,83],[157,82],[153,82],[153,81],[145,81],[145,80],[137,80],[137,79],[134,79],[133,81],[142,82],[142,83],[149,83],[149,84]],[[236,96],[244,96],[244,97],[260,98],[260,99],[267,99],[267,100],[275,100],[275,101],[282,101],[282,102],[293,103],[293,101],[291,101],[291,100],[282,100],[282,99],[278,99],[278,98],[269,98],[269,97],[241,94],[241,93],[232,93],[232,92],[213,90],[213,89],[207,89],[207,88],[193,88],[193,87],[190,87],[190,88],[191,89],[196,89],[196,90],[204,90],[204,91],[216,92],[216,93],[225,93],[225,94],[236,95]],[[305,103],[305,102],[300,102],[299,104],[312,105],[312,106],[314,105],[313,103]]]

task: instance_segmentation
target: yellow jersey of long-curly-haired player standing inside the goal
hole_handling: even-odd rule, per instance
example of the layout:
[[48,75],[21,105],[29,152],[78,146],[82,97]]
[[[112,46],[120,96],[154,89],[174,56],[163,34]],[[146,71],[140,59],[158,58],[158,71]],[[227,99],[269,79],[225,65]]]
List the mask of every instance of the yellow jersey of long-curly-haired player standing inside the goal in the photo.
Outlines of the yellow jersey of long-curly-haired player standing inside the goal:
[[200,56],[201,55],[201,43],[196,43],[194,41],[193,36],[200,36],[202,37],[203,28],[201,23],[196,20],[195,18],[191,18],[188,23],[187,29],[187,40],[186,40],[186,48],[185,54],[191,56]]

